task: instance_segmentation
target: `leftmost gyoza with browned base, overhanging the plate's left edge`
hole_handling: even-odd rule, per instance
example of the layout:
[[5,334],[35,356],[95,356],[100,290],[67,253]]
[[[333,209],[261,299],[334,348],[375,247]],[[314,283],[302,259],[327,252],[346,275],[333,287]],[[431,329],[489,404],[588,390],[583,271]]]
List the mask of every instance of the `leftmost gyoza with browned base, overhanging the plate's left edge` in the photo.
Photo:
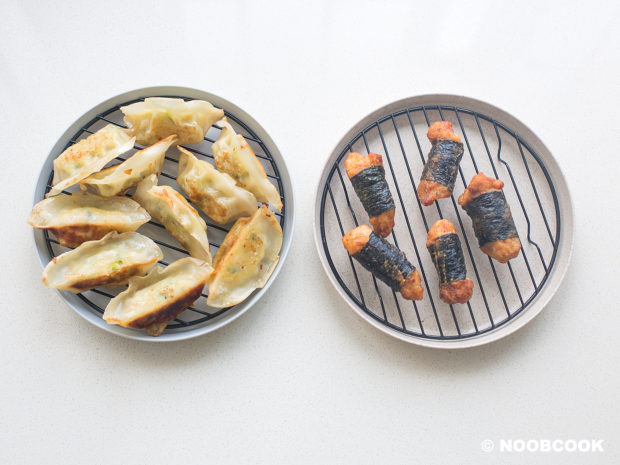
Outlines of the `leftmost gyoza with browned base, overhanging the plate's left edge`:
[[28,223],[49,230],[60,245],[77,247],[110,231],[135,231],[150,219],[144,208],[127,197],[104,198],[76,191],[40,201]]

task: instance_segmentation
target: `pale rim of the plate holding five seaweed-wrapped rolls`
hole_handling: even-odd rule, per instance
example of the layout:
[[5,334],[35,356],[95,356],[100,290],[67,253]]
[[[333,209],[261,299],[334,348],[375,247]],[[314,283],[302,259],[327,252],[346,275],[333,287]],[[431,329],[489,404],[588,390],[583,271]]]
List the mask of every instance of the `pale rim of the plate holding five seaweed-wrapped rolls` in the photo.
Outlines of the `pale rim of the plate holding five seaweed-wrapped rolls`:
[[[368,313],[366,313],[363,309],[361,309],[340,287],[338,284],[329,263],[327,262],[327,257],[325,254],[325,250],[322,247],[322,239],[321,239],[321,231],[320,231],[320,206],[321,206],[321,197],[323,191],[323,185],[327,180],[327,176],[329,171],[331,170],[331,166],[334,161],[338,158],[344,147],[347,145],[348,141],[353,137],[353,135],[362,131],[365,127],[367,127],[370,123],[380,119],[386,114],[392,114],[398,110],[402,110],[405,108],[411,108],[414,106],[421,105],[450,105],[450,106],[458,106],[467,108],[470,110],[477,111],[479,113],[483,113],[487,116],[490,116],[503,124],[506,124],[513,131],[519,134],[521,138],[526,140],[528,144],[532,147],[536,147],[536,153],[539,155],[541,160],[544,161],[545,167],[549,171],[550,177],[553,178],[554,186],[556,188],[556,192],[558,195],[558,205],[560,206],[560,216],[562,218],[562,230],[560,234],[560,242],[558,244],[558,253],[556,258],[556,266],[551,270],[551,273],[541,288],[539,294],[534,298],[534,300],[529,304],[529,306],[523,311],[519,313],[514,319],[510,320],[506,324],[490,330],[486,333],[471,336],[464,339],[430,339],[419,336],[414,336],[410,334],[405,334],[400,331],[396,331],[387,325],[375,320]],[[481,109],[481,110],[479,110]],[[395,100],[391,103],[383,105],[378,109],[370,112],[365,117],[360,119],[357,123],[355,123],[346,133],[340,138],[340,140],[335,145],[329,157],[326,159],[323,169],[321,170],[321,175],[317,181],[315,188],[315,202],[314,202],[314,214],[313,214],[313,235],[314,235],[314,243],[319,255],[319,259],[323,270],[327,274],[328,279],[332,283],[332,286],[336,289],[338,294],[344,299],[344,301],[351,307],[354,312],[360,316],[363,320],[368,322],[371,326],[379,329],[385,334],[388,334],[396,339],[423,346],[429,348],[438,348],[438,349],[465,349],[471,347],[478,347],[484,344],[488,344],[497,340],[500,340],[515,331],[518,331],[520,328],[525,326],[527,323],[532,321],[536,316],[540,314],[540,312],[547,306],[549,301],[553,298],[553,296],[558,291],[564,277],[566,276],[566,272],[570,266],[570,261],[572,257],[573,247],[574,247],[574,233],[575,233],[575,223],[574,223],[574,205],[572,202],[572,198],[570,195],[570,191],[568,189],[568,184],[566,183],[566,177],[564,173],[557,163],[557,160],[551,153],[551,151],[547,148],[547,146],[542,142],[540,137],[536,135],[527,125],[525,125],[521,120],[503,110],[495,105],[487,103],[483,100],[479,100],[476,98],[467,97],[464,95],[456,95],[456,94],[444,94],[444,93],[433,93],[433,94],[421,94],[415,95],[411,97],[405,97],[399,100]]]

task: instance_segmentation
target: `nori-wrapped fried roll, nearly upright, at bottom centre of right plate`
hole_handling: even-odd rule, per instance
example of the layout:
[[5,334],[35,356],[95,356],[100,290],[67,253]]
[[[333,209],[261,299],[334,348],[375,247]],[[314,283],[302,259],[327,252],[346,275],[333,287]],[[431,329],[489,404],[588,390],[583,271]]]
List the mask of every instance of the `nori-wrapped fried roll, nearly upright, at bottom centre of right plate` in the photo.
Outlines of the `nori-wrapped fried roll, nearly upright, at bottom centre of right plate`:
[[461,241],[454,225],[439,220],[428,231],[426,248],[439,275],[439,298],[448,304],[464,304],[471,299],[474,283],[467,279]]

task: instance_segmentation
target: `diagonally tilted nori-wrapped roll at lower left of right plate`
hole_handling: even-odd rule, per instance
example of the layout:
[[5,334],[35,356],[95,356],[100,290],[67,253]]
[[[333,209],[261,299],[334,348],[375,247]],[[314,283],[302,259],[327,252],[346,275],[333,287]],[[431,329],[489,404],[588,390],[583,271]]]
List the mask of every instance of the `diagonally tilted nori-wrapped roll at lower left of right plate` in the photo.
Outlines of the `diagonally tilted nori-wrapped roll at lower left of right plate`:
[[421,300],[420,273],[403,252],[361,225],[346,233],[342,243],[353,258],[407,300]]

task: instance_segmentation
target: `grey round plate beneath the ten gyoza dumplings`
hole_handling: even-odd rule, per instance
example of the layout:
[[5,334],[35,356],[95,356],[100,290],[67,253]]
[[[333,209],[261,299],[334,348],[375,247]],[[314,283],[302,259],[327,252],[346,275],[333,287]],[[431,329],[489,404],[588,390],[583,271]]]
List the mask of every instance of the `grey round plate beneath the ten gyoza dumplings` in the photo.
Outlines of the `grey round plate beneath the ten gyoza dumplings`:
[[[89,127],[93,130],[99,129],[99,127],[102,127],[103,125],[105,125],[106,122],[99,121],[99,122],[92,123],[92,120],[96,118],[97,115],[104,113],[107,110],[114,108],[117,105],[122,104],[124,102],[128,102],[128,101],[135,100],[135,99],[140,99],[144,97],[150,97],[150,96],[178,96],[178,97],[186,97],[186,98],[191,98],[191,99],[207,100],[211,102],[213,105],[215,105],[216,107],[223,108],[227,113],[230,113],[231,115],[233,115],[234,117],[242,121],[243,124],[245,124],[247,128],[249,128],[257,136],[257,138],[262,141],[263,147],[266,148],[266,150],[270,153],[273,159],[273,163],[275,164],[275,166],[277,166],[277,170],[279,172],[279,177],[280,177],[280,182],[281,182],[281,188],[279,190],[280,190],[280,195],[284,198],[284,209],[282,211],[284,215],[283,221],[282,221],[283,242],[282,242],[282,249],[280,251],[280,261],[278,265],[276,266],[276,269],[274,270],[273,274],[271,275],[269,281],[267,282],[264,288],[256,290],[244,302],[224,312],[218,313],[217,316],[210,318],[206,321],[194,323],[195,321],[204,319],[205,315],[187,310],[184,313],[182,313],[179,316],[179,318],[181,318],[181,320],[183,321],[188,321],[191,324],[187,326],[178,326],[176,328],[169,328],[169,329],[166,329],[166,331],[161,336],[151,337],[148,334],[146,334],[144,331],[126,329],[126,328],[122,328],[117,325],[108,325],[101,318],[101,314],[84,300],[84,299],[90,300],[95,305],[98,305],[100,308],[105,308],[105,304],[109,300],[108,297],[102,296],[100,294],[96,294],[92,291],[87,291],[81,296],[75,295],[73,293],[66,292],[66,291],[59,291],[60,295],[67,302],[67,304],[73,310],[75,310],[80,316],[82,316],[86,320],[90,321],[94,325],[106,331],[130,338],[130,339],[157,341],[157,342],[177,341],[177,340],[189,339],[195,336],[199,336],[201,334],[206,334],[218,328],[221,328],[222,326],[230,323],[231,321],[233,321],[234,319],[238,318],[243,313],[245,313],[248,309],[250,309],[252,305],[254,305],[261,298],[261,296],[267,291],[271,283],[273,283],[273,281],[278,276],[280,270],[282,269],[282,266],[284,265],[284,261],[286,260],[286,256],[288,255],[289,248],[291,246],[291,240],[293,236],[293,226],[295,223],[295,203],[294,203],[294,198],[293,198],[293,189],[291,185],[291,180],[290,180],[289,173],[286,168],[284,159],[282,158],[282,155],[280,154],[280,151],[278,150],[276,144],[273,142],[271,137],[269,137],[269,134],[267,134],[267,132],[262,128],[262,126],[260,126],[254,120],[254,118],[248,115],[241,108],[237,107],[231,102],[221,97],[218,97],[216,95],[212,95],[207,92],[203,92],[203,91],[196,90],[196,89],[190,89],[190,88],[185,88],[185,87],[171,87],[171,86],[149,87],[149,88],[134,90],[131,92],[126,92],[124,94],[113,97],[109,100],[106,100],[105,102],[97,105],[96,107],[92,108],[90,111],[82,115],[80,118],[78,118],[78,120],[75,123],[73,123],[65,131],[65,133],[58,139],[58,142],[56,142],[56,144],[50,151],[47,159],[45,160],[43,167],[41,168],[41,173],[39,174],[39,179],[38,179],[38,182],[35,188],[34,203],[37,203],[44,198],[44,195],[46,192],[46,185],[47,185],[50,173],[52,171],[53,160],[58,155],[60,155],[60,153],[65,148],[65,146],[69,143],[70,139],[75,134],[77,134],[81,128]],[[120,112],[118,111],[110,114],[108,118],[110,118],[113,121],[119,122],[119,123],[122,122],[122,114],[120,114]],[[234,121],[231,121],[231,123],[233,124],[233,126],[235,126],[235,128],[239,132],[243,134],[247,134],[247,131],[240,129],[240,126],[236,124]],[[210,136],[211,138],[216,138],[217,132],[218,131],[216,129],[212,128],[209,131],[208,136]],[[88,136],[87,133],[83,134],[82,136],[79,136],[79,138],[86,137],[86,136]],[[257,154],[261,153],[260,144],[255,143],[251,140],[248,140],[248,142],[250,143],[250,145],[253,147],[254,151]],[[199,149],[201,151],[204,151],[205,153],[207,152],[210,153],[210,145],[211,145],[210,142],[205,141],[200,145],[192,145],[190,147]],[[173,156],[176,157],[176,149],[174,149],[174,152],[175,154]],[[113,163],[116,163],[116,161]],[[167,169],[167,165],[169,165],[170,163],[171,163],[170,161],[165,162],[164,172],[169,171],[169,172],[172,172],[173,174],[176,174],[176,168],[174,168],[174,166],[168,166],[168,169]],[[278,187],[278,183],[273,177],[275,173],[274,173],[274,168],[271,166],[271,162],[265,159],[261,159],[261,163],[265,167],[265,170],[267,171],[268,175],[272,176],[272,182],[274,182],[276,186]],[[182,190],[176,185],[173,179],[168,179],[163,176],[160,176],[159,179],[160,179],[160,184],[172,185],[178,191],[182,193]],[[74,190],[74,189],[75,187],[71,190]],[[214,243],[220,244],[225,236],[225,231],[218,229],[217,225],[213,221],[211,221],[208,217],[203,215],[203,219],[205,219],[205,221],[209,225],[208,226],[209,241],[212,244]],[[172,238],[172,236],[170,236],[165,230],[162,230],[161,228],[157,228],[154,225],[147,224],[141,227],[139,229],[139,232],[149,237],[152,237],[154,239],[158,239],[162,242],[179,247],[179,244],[176,243],[176,241],[174,240],[174,238]],[[53,236],[51,235],[50,237],[53,238]],[[58,245],[52,244],[53,254],[50,254],[48,250],[46,238],[45,238],[45,233],[40,230],[36,230],[36,229],[34,230],[34,240],[35,240],[35,246],[36,246],[37,252],[39,254],[39,259],[41,260],[41,264],[43,266],[47,265],[47,263],[52,258],[53,254],[62,253],[68,250]],[[166,260],[167,262],[170,262],[177,258],[181,258],[182,256],[186,256],[185,254],[180,254],[179,252],[176,252],[172,249],[168,250],[165,247],[162,247],[162,250],[164,251],[164,260]],[[213,249],[212,249],[212,253],[213,253]],[[122,289],[117,289],[117,290],[113,290],[110,292],[112,294],[117,294],[120,291],[122,291]],[[210,309],[209,307],[206,306],[206,302],[204,302],[205,300],[206,299],[204,299],[204,297],[199,298],[198,301],[194,304],[194,307],[196,307],[197,310],[200,310],[207,314],[217,313],[218,312],[217,309]]]

